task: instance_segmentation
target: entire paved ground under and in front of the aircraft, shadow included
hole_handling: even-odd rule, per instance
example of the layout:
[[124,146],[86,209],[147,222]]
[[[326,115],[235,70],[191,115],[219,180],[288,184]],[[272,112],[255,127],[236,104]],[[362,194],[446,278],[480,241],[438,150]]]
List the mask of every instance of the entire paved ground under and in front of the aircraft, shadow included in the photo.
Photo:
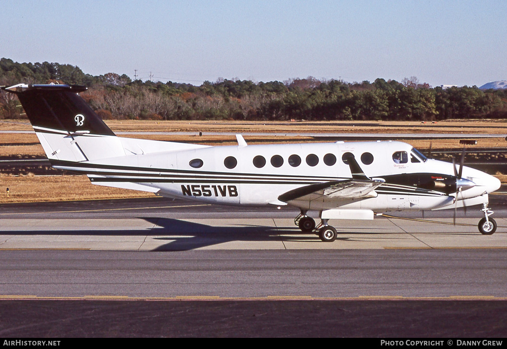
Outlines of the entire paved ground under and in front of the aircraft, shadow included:
[[286,208],[0,205],[0,336],[502,336],[507,211],[491,199],[492,236],[470,208],[456,225],[335,220],[334,243]]

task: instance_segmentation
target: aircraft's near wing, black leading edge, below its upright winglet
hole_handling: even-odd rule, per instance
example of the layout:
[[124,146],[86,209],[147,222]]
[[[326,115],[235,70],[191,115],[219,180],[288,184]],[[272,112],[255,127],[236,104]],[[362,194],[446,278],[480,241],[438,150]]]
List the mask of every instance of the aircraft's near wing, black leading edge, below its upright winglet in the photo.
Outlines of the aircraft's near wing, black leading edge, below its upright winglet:
[[376,197],[374,191],[384,183],[381,179],[345,179],[324,183],[310,184],[287,191],[278,200],[289,202],[293,200],[313,201],[321,198],[339,201],[341,199],[360,199]]

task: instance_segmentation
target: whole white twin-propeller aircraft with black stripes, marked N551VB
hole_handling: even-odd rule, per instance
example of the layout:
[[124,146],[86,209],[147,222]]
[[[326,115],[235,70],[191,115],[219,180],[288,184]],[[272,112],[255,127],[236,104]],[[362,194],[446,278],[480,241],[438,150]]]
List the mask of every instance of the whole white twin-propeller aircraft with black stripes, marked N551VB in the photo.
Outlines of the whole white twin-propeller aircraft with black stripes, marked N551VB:
[[[482,234],[493,234],[484,172],[427,159],[394,141],[206,146],[117,137],[78,95],[83,86],[4,87],[17,94],[53,167],[93,184],[225,205],[292,205],[295,223],[324,242],[329,219],[373,219],[374,212],[483,205]],[[320,211],[315,226],[308,210]]]

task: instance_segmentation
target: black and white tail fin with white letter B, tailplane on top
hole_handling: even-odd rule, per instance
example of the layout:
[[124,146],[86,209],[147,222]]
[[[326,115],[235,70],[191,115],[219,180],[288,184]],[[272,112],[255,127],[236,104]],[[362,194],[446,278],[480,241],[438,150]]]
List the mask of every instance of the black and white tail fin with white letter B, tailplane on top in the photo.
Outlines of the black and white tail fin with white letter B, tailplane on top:
[[4,87],[15,93],[50,160],[80,162],[124,156],[118,137],[78,95],[84,86]]

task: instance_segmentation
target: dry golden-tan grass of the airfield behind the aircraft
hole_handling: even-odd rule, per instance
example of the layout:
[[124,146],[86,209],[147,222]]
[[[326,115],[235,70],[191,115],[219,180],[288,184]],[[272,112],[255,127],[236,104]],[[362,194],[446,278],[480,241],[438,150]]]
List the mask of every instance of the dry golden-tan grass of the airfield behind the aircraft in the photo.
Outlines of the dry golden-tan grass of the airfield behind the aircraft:
[[[444,121],[426,122],[238,122],[238,121],[106,121],[115,132],[132,132],[122,137],[147,138],[176,142],[191,142],[208,145],[236,144],[233,135],[206,135],[207,132],[233,133],[390,133],[390,134],[428,134],[428,133],[480,133],[507,134],[507,121]],[[24,120],[0,121],[0,131],[32,131]],[[202,132],[196,135],[138,134],[137,132]],[[261,143],[299,143],[315,142],[312,137],[280,135],[246,135],[248,144]],[[459,148],[458,139],[420,139],[410,141],[421,149]],[[505,147],[504,138],[481,138],[476,147]],[[1,157],[41,157],[44,156],[37,136],[31,133],[0,133]],[[502,182],[507,176],[498,174]],[[10,189],[9,198],[6,188]],[[153,196],[151,193],[108,188],[92,185],[86,176],[0,176],[0,203],[31,201],[62,201],[133,198]]]

